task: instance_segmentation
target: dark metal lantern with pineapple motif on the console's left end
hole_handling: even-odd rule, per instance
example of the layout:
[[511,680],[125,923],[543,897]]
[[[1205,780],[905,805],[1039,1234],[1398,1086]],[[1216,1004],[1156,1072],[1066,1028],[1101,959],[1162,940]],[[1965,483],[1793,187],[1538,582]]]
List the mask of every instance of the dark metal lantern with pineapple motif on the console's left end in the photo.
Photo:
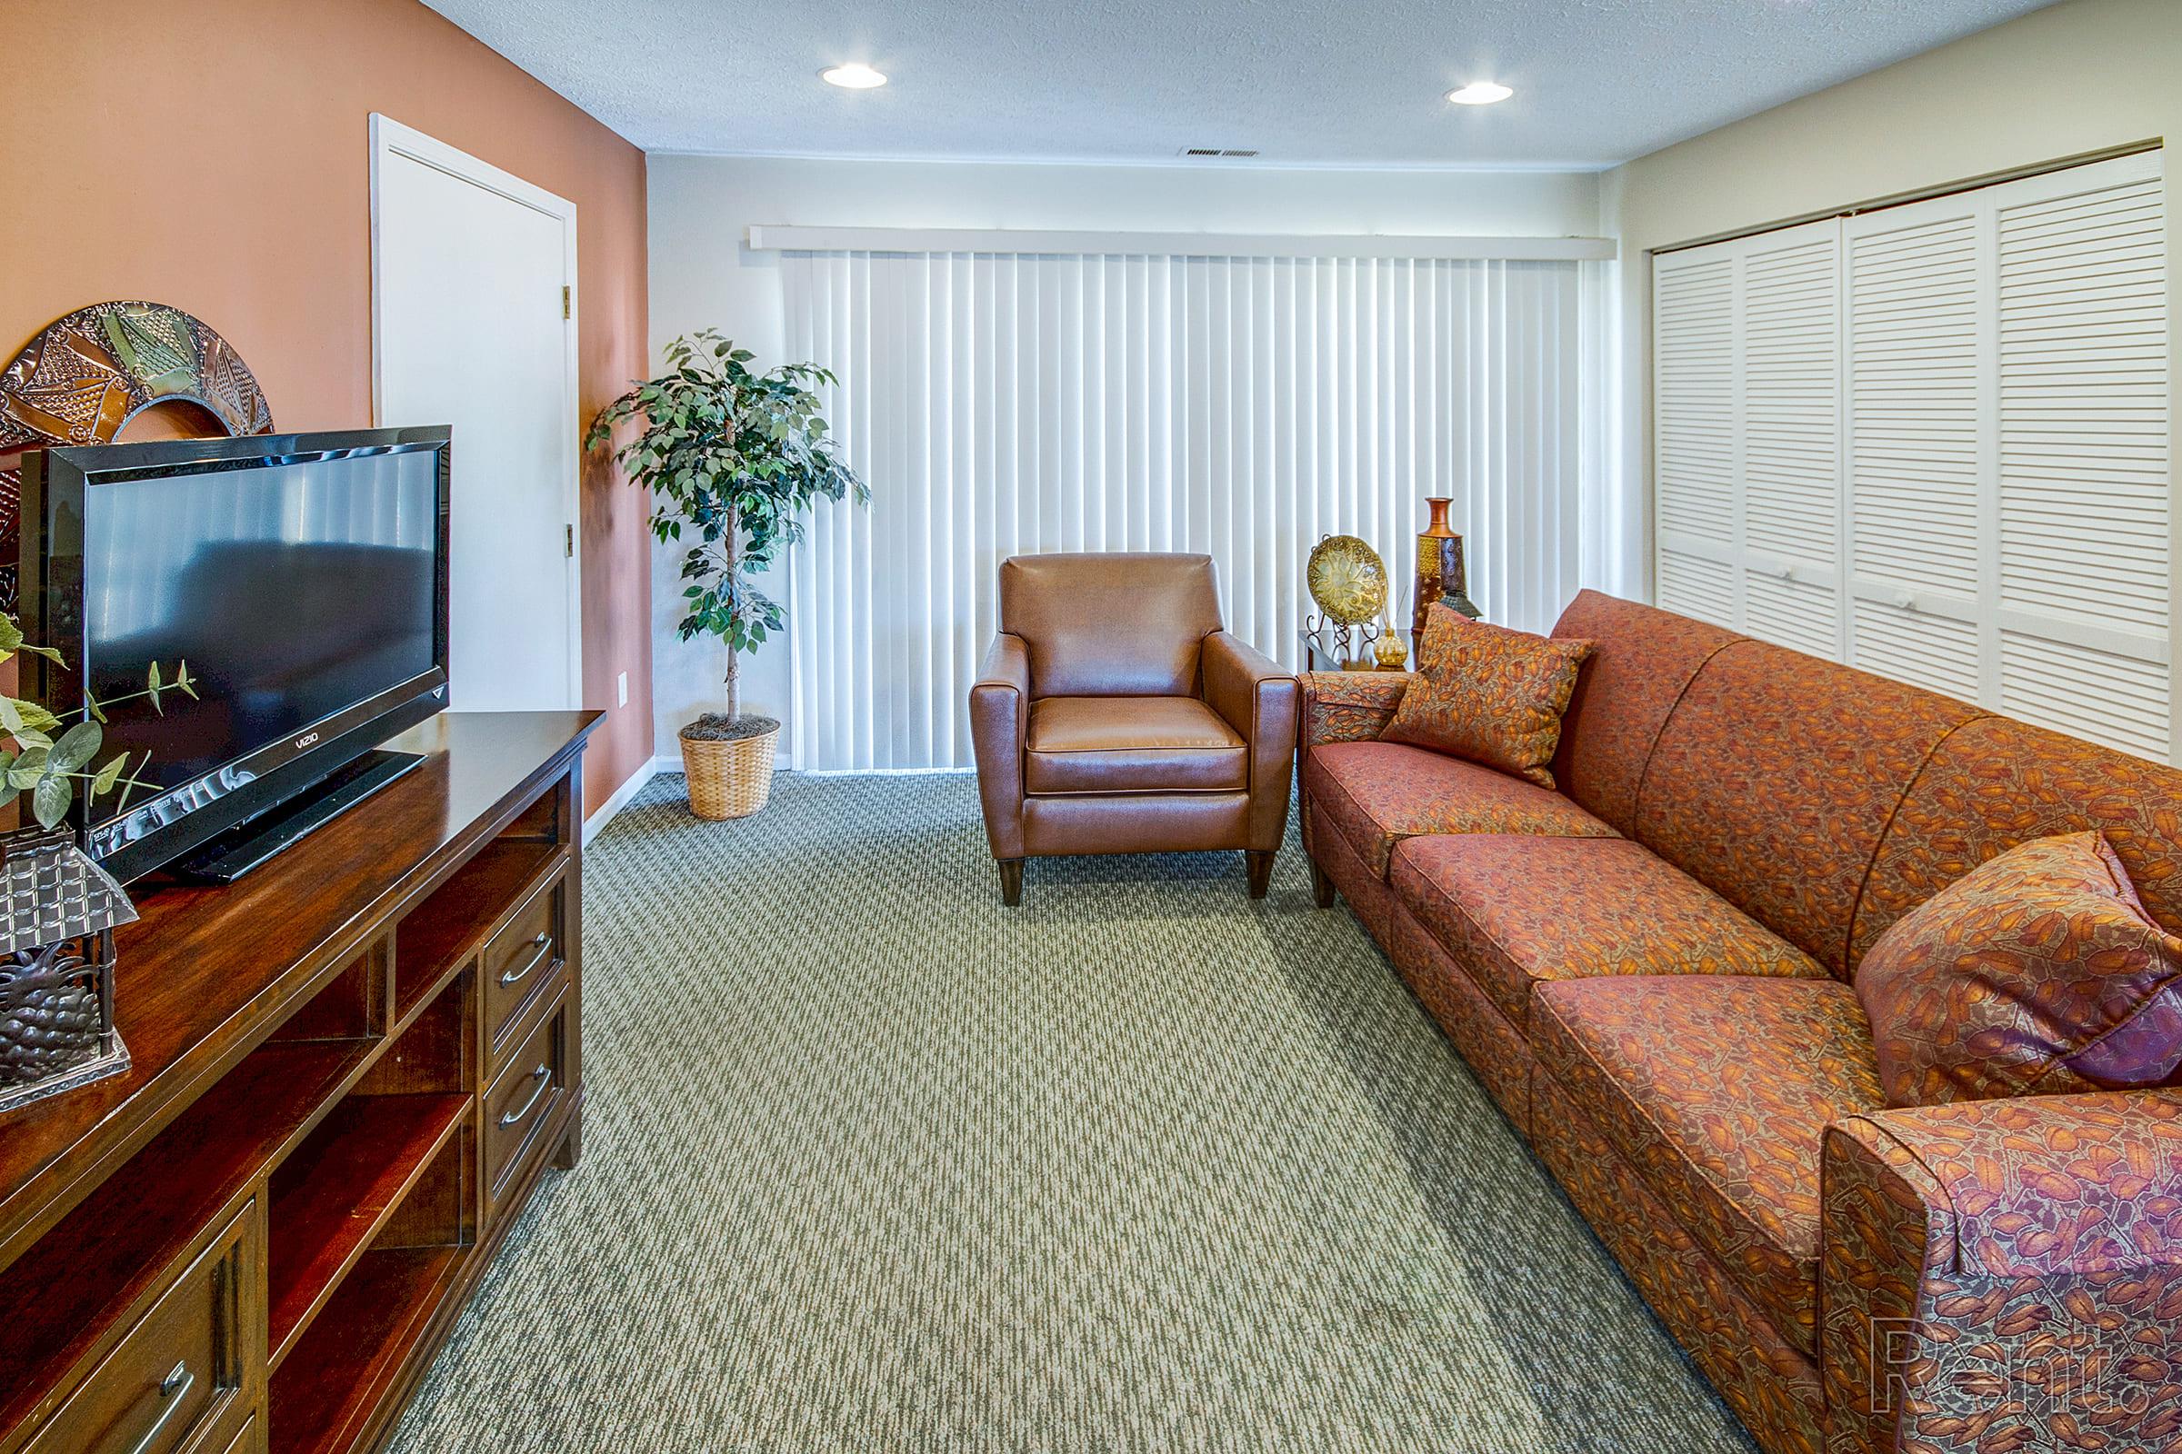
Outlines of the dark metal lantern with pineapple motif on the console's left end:
[[129,1068],[113,926],[135,916],[68,831],[0,839],[0,1112]]

